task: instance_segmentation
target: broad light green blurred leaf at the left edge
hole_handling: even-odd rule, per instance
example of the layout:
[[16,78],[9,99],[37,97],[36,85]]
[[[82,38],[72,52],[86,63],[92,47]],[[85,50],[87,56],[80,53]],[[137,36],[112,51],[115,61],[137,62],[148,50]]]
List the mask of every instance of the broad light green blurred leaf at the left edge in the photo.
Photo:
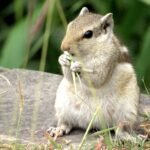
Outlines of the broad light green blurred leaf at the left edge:
[[0,65],[3,67],[20,67],[27,47],[27,20],[18,22],[10,31],[3,46]]

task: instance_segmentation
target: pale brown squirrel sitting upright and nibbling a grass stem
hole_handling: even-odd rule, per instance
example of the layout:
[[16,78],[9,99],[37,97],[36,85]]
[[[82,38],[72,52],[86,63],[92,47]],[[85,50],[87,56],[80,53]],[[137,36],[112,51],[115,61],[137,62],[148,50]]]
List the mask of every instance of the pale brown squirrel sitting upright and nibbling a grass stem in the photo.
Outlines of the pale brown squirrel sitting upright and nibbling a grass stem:
[[[58,61],[63,79],[55,100],[57,127],[47,131],[63,136],[72,128],[117,126],[116,137],[130,139],[138,115],[140,90],[128,49],[113,32],[112,13],[104,16],[83,7],[68,24]],[[78,75],[76,90],[72,73]]]

